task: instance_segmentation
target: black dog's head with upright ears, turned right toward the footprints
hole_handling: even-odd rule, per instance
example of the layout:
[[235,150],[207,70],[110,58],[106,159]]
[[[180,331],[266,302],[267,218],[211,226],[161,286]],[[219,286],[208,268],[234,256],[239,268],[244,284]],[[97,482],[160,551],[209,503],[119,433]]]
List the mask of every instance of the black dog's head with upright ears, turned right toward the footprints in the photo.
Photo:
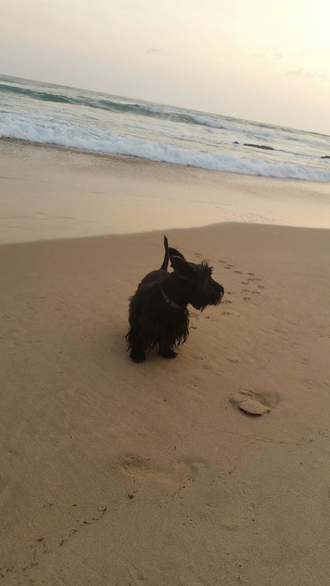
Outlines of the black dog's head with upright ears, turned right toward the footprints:
[[212,267],[209,267],[206,260],[201,264],[195,264],[185,260],[181,253],[177,253],[175,248],[168,250],[175,277],[180,281],[180,286],[184,287],[187,303],[201,311],[207,306],[219,305],[224,289],[212,279]]

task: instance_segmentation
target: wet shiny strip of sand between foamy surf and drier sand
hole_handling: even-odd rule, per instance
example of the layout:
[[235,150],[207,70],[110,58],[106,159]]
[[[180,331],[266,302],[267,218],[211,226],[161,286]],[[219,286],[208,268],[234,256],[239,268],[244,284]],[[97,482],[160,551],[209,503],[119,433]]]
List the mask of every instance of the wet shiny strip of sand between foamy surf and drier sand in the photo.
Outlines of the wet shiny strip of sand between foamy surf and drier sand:
[[329,184],[0,141],[0,243],[226,222],[329,228]]

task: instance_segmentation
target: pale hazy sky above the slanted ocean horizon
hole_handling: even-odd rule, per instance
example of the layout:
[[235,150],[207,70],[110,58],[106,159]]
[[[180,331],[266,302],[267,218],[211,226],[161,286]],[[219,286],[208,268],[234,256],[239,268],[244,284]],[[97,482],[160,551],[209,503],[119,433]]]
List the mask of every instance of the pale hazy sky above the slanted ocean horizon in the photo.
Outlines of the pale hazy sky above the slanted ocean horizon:
[[330,134],[329,0],[0,0],[0,72]]

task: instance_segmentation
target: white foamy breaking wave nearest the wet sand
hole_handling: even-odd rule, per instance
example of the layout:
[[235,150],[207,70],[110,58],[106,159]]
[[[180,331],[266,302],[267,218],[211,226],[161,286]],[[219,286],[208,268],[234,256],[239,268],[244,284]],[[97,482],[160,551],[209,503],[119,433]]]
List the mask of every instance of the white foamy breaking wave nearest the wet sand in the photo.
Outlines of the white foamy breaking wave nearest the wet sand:
[[0,136],[19,138],[35,143],[61,145],[109,155],[139,157],[182,166],[194,166],[212,171],[263,175],[309,181],[330,181],[330,170],[316,164],[274,162],[256,156],[232,155],[226,152],[203,152],[197,148],[152,141],[129,134],[117,134],[97,127],[65,122],[60,124],[47,118],[8,114],[0,121]]

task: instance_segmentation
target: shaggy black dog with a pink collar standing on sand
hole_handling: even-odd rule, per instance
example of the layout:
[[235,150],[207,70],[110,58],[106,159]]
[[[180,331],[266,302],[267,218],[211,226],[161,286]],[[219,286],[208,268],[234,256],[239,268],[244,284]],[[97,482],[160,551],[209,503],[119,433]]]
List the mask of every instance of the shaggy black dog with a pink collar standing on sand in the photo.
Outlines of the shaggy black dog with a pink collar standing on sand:
[[[175,248],[168,248],[162,267],[146,275],[129,300],[127,349],[133,362],[146,360],[145,351],[155,348],[164,358],[175,358],[175,349],[189,336],[188,303],[195,309],[217,306],[224,290],[212,279],[212,267],[187,262]],[[173,273],[168,273],[168,258]]]

